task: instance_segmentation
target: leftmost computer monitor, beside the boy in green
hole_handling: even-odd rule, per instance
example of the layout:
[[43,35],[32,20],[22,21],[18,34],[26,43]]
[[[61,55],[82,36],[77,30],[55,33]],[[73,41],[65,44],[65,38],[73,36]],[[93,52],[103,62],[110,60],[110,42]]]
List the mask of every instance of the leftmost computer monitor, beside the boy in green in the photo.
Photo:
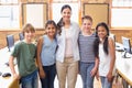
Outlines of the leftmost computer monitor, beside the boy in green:
[[14,46],[14,36],[12,34],[7,35],[7,46],[9,48],[9,52],[11,51],[11,47]]

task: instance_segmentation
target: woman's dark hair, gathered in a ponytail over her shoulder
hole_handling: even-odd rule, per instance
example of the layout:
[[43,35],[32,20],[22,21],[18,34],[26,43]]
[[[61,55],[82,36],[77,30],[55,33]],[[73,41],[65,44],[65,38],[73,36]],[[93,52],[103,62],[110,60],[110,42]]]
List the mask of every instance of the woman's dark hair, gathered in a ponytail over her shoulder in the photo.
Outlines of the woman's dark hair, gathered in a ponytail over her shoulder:
[[[63,12],[63,10],[64,10],[64,9],[67,9],[67,8],[72,11],[70,6],[64,4],[64,6],[62,7],[62,9],[61,9],[61,12]],[[62,26],[64,26],[64,25],[65,25],[65,23],[63,22],[63,18],[61,18],[61,20],[59,20],[58,23],[57,23],[57,32],[58,32],[58,34],[62,33]]]

